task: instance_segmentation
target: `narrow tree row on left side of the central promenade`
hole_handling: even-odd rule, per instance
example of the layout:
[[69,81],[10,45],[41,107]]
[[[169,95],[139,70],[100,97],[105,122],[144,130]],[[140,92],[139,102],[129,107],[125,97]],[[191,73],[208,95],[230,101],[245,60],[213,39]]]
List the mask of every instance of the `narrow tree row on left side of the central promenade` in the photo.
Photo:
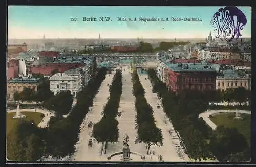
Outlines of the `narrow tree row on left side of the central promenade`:
[[106,142],[105,152],[108,142],[117,142],[119,138],[118,114],[120,97],[122,94],[122,72],[116,70],[116,74],[110,86],[110,97],[103,109],[103,117],[93,126],[93,136],[98,142]]

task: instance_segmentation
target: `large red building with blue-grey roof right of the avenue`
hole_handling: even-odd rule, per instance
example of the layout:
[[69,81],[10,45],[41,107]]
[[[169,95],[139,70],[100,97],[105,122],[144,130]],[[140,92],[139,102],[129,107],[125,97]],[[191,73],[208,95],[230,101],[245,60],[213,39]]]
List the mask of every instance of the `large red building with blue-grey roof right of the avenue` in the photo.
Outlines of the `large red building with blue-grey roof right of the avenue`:
[[168,64],[165,71],[169,90],[216,90],[216,69],[201,63]]

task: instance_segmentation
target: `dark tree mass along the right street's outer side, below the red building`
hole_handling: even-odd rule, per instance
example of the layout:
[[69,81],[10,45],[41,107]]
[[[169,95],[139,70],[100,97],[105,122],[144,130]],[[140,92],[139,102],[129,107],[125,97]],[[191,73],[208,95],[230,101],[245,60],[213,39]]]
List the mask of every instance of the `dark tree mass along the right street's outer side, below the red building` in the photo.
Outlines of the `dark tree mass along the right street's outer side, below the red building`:
[[218,127],[212,131],[202,118],[198,119],[198,115],[207,110],[212,92],[184,90],[175,94],[157,78],[153,69],[148,70],[148,77],[190,158],[201,161],[216,157],[219,161],[232,161],[236,159],[234,156],[242,155],[240,159],[248,160],[249,146],[237,129]]

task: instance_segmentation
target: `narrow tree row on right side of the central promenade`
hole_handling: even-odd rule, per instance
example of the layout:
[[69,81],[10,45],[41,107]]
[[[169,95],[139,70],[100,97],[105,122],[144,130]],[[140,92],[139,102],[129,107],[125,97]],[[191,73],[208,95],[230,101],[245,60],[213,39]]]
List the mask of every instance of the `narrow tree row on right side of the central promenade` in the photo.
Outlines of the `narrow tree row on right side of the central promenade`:
[[152,145],[163,146],[163,135],[161,129],[157,128],[153,116],[153,109],[145,99],[145,91],[140,83],[137,70],[132,73],[133,95],[136,98],[135,108],[137,138],[136,143],[144,142],[146,144],[147,154],[149,154]]

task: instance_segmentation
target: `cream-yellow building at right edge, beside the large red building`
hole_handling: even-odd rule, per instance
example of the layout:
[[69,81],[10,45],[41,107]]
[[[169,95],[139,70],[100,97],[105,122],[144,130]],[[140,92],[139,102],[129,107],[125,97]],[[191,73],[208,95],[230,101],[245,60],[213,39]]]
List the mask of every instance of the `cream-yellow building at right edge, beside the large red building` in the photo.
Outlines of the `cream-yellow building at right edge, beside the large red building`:
[[249,77],[239,75],[237,71],[232,69],[223,70],[222,76],[216,78],[216,89],[224,92],[227,88],[244,87],[246,90],[251,89],[251,79]]

